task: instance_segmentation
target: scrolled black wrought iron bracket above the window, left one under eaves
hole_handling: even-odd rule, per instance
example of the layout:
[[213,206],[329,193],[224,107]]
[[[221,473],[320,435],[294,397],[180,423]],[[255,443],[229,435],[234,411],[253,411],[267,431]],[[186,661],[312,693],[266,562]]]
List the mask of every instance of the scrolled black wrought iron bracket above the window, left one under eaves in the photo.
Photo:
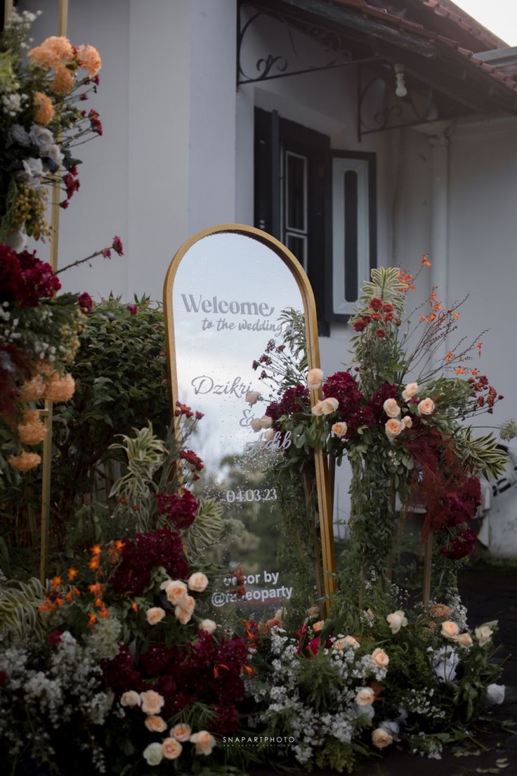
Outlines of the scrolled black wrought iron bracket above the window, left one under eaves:
[[[247,18],[243,19],[243,7],[248,11]],[[246,37],[257,29],[260,18],[274,19],[278,23],[278,29],[284,33],[281,36],[283,50],[281,52],[268,52],[259,57],[254,63],[253,72],[249,72],[250,66],[243,63],[243,54],[246,50]],[[315,40],[320,44],[319,64],[309,65],[304,61],[299,50],[297,35],[302,35]],[[237,88],[244,84],[254,84],[260,81],[271,81],[274,78],[287,78],[290,75],[302,75],[315,73],[321,70],[343,68],[353,64],[369,64],[380,61],[381,57],[367,57],[354,60],[350,50],[346,47],[346,41],[339,32],[331,32],[313,23],[297,20],[294,26],[288,16],[271,9],[260,8],[249,0],[237,2],[237,48],[236,48],[236,83]]]

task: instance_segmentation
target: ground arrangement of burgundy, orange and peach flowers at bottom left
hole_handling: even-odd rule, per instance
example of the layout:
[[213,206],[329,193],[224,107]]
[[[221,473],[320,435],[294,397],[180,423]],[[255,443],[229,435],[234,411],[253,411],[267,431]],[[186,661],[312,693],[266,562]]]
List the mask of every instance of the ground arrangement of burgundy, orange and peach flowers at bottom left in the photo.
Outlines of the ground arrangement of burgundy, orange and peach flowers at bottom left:
[[[36,602],[16,598],[16,608],[0,596],[0,750],[9,767],[48,763],[67,773],[80,747],[84,773],[147,773],[169,760],[181,773],[219,772],[222,736],[240,727],[252,669],[246,641],[212,619],[217,570],[202,549],[224,525],[220,508],[191,493],[196,467],[180,456],[202,414],[178,410],[178,438],[162,442],[149,426],[122,439],[127,473],[112,489],[108,533]],[[109,538],[119,525],[128,532]],[[35,603],[37,631],[27,639],[20,612]]]

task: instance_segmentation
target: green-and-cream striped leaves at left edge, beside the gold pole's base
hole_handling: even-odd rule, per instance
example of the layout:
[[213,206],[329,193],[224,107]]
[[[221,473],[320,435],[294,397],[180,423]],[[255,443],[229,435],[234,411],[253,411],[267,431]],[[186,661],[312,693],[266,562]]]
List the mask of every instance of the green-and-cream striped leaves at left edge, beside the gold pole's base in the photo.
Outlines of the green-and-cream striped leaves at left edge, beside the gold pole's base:
[[13,580],[0,590],[0,633],[8,639],[41,636],[43,623],[38,614],[45,600],[40,580],[33,577],[28,582]]

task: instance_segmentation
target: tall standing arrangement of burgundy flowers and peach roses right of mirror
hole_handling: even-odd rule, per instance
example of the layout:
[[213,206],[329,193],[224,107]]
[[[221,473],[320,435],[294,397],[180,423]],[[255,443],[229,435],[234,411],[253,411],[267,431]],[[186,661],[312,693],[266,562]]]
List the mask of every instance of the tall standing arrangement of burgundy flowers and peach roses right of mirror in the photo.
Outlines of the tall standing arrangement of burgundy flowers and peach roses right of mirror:
[[[424,257],[422,267],[429,264]],[[435,581],[442,580],[443,590],[454,587],[455,562],[474,549],[467,521],[481,502],[478,475],[497,476],[505,463],[493,435],[474,438],[464,424],[491,414],[502,399],[469,365],[481,355],[482,334],[451,347],[461,303],[444,308],[436,289],[427,310],[420,306],[405,317],[414,288],[415,279],[398,268],[372,270],[350,320],[357,332],[352,368],[327,378],[310,370],[264,416],[292,438],[286,465],[303,466],[314,449],[338,463],[346,456],[352,465],[350,543],[356,549],[343,584],[351,608],[360,579],[389,575],[397,513],[403,520],[415,505],[425,509],[422,539],[433,537]],[[317,396],[312,407],[309,392]]]

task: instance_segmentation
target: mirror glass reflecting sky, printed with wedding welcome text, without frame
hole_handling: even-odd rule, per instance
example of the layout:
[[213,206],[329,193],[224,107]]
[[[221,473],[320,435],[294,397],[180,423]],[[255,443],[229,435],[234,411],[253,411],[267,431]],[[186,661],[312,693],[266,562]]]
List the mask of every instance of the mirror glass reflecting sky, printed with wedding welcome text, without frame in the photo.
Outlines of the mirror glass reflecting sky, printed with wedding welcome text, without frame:
[[[266,616],[292,594],[277,561],[280,513],[274,480],[266,473],[286,442],[267,441],[266,431],[251,428],[273,398],[260,380],[262,366],[253,369],[253,361],[271,339],[281,344],[282,312],[288,309],[304,310],[295,276],[272,248],[245,234],[202,237],[188,248],[174,276],[174,400],[205,414],[189,442],[205,462],[196,495],[216,497],[226,517],[236,521],[231,539],[210,557],[228,569],[212,603],[239,603]],[[247,404],[250,391],[263,400]]]

